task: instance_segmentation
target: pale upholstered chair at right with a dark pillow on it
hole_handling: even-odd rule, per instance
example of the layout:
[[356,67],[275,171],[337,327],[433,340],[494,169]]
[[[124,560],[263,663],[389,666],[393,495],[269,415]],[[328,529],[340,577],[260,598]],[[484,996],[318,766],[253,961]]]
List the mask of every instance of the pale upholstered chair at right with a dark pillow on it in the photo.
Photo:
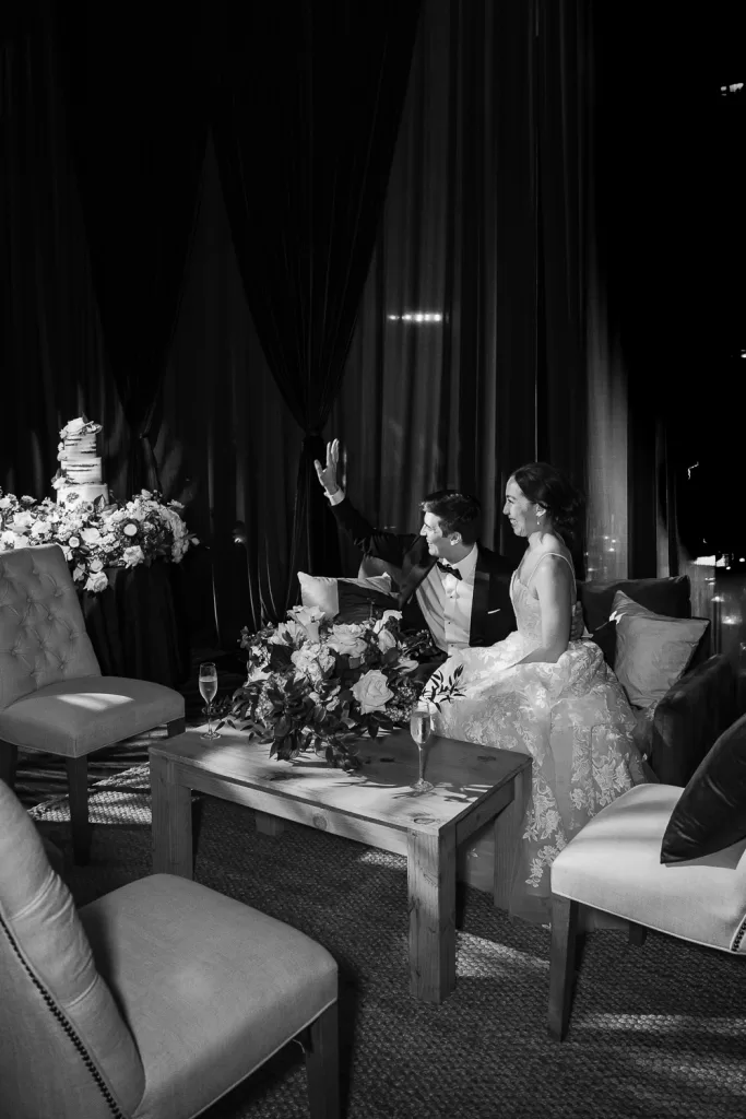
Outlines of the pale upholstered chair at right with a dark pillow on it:
[[[746,721],[742,721],[746,723]],[[733,728],[743,732],[738,724]],[[725,735],[719,740],[729,744]],[[730,736],[734,744],[734,736]],[[718,744],[711,755],[717,754]],[[744,754],[746,769],[746,754]],[[551,958],[549,970],[549,1033],[563,1041],[567,1033],[576,974],[578,908],[588,905],[630,922],[630,941],[641,944],[654,929],[680,940],[746,955],[746,838],[738,816],[728,821],[736,830],[725,834],[720,849],[710,843],[699,857],[661,862],[671,839],[681,845],[697,821],[691,805],[712,786],[711,773],[700,765],[687,789],[670,784],[642,784],[630,789],[602,809],[569,841],[551,866]],[[687,811],[677,814],[677,806]],[[714,805],[717,810],[717,803]],[[677,825],[677,818],[682,827]],[[740,817],[743,824],[743,812]],[[714,820],[717,824],[717,820]],[[684,833],[682,836],[681,833]],[[717,837],[716,837],[717,838]],[[696,855],[693,846],[684,856]],[[596,935],[604,935],[597,932]]]

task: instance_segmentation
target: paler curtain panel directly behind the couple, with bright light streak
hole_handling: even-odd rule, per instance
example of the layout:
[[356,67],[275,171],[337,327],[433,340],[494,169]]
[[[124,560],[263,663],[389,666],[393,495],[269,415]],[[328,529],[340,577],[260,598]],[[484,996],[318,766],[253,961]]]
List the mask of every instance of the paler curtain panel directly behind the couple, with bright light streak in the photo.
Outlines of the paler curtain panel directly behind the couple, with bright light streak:
[[[544,458],[589,490],[589,536],[604,535],[607,480],[588,486],[588,410],[616,415],[610,397],[623,402],[624,386],[589,208],[591,16],[588,0],[425,6],[330,425],[350,496],[379,524],[412,529],[423,493],[460,486],[482,500],[484,542],[517,557],[504,485]],[[624,489],[623,420],[614,435]],[[350,571],[357,556],[344,555]]]

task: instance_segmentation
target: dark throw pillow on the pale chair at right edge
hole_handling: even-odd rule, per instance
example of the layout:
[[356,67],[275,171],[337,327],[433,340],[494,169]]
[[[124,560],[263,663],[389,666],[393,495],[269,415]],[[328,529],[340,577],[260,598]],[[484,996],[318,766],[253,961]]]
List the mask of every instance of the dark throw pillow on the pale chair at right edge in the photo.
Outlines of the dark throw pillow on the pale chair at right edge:
[[661,863],[684,863],[746,839],[746,715],[724,731],[681,793]]

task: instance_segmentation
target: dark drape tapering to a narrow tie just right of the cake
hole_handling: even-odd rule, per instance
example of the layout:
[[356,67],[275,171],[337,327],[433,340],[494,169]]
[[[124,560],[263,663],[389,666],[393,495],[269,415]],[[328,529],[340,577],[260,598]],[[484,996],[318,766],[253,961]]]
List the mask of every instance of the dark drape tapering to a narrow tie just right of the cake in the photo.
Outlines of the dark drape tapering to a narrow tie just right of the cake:
[[[138,0],[58,4],[67,128],[111,369],[130,429],[128,490],[160,489],[150,442],[178,321],[207,138],[178,20]],[[205,370],[209,376],[209,370]]]

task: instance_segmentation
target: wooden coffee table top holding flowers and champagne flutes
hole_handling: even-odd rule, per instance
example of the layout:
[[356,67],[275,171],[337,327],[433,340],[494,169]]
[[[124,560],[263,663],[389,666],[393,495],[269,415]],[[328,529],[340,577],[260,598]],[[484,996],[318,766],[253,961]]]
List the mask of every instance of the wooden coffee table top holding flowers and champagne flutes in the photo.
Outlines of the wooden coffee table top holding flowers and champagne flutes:
[[330,769],[311,752],[292,762],[271,759],[267,744],[228,726],[214,743],[201,742],[201,733],[198,728],[163,739],[153,743],[151,754],[205,775],[403,830],[437,831],[457,821],[531,765],[528,754],[433,737],[426,747],[425,779],[434,788],[415,792],[409,786],[417,778],[417,746],[407,730],[362,739],[361,768],[352,773]]

